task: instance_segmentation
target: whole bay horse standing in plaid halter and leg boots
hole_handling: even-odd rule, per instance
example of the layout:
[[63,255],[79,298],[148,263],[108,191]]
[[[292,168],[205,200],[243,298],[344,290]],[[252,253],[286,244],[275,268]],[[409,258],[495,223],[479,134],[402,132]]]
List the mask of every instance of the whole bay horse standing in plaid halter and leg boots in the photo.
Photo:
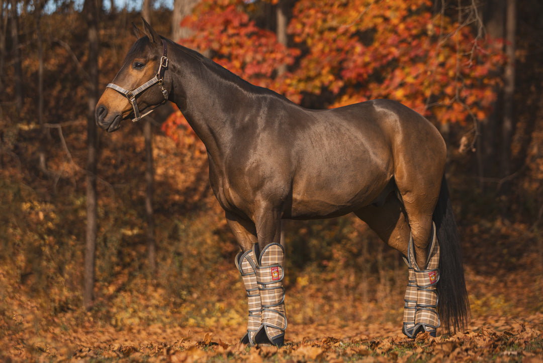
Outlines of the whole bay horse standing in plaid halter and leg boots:
[[[301,107],[200,53],[143,33],[96,105],[108,132],[175,103],[204,143],[209,180],[241,252],[249,345],[287,328],[281,220],[355,214],[408,265],[402,331],[464,329],[469,300],[445,178],[446,145],[421,114],[387,99]],[[140,111],[141,109],[141,111]]]

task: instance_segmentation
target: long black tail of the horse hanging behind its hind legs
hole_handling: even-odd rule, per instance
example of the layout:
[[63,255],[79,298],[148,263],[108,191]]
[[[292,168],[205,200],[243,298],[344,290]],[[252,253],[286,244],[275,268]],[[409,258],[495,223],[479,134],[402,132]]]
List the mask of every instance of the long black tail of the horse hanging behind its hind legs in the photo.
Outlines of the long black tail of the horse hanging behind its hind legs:
[[447,332],[466,329],[470,316],[468,291],[460,249],[460,235],[454,220],[447,181],[443,176],[433,219],[439,243],[438,314]]

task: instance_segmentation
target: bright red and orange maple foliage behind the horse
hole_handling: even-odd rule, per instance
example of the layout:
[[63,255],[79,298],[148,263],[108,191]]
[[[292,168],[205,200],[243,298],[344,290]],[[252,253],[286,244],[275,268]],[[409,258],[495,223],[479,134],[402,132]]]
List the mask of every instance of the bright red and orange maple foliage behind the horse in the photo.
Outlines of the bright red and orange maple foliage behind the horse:
[[[312,107],[389,98],[437,124],[466,124],[486,118],[496,100],[502,42],[477,34],[469,12],[434,13],[430,0],[300,0],[286,47],[251,20],[257,4],[204,0],[185,18],[194,35],[181,43],[297,103],[320,95]],[[188,130],[180,112],[163,128],[182,141],[176,125]]]

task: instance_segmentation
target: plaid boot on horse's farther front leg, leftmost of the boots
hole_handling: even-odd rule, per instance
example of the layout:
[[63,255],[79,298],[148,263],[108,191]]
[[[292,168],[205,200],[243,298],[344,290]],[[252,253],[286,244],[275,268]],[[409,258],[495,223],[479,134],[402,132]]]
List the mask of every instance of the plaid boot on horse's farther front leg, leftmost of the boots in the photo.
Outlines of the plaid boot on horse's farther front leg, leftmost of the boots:
[[236,256],[235,263],[236,268],[241,273],[249,303],[247,334],[245,334],[239,342],[255,345],[254,337],[256,331],[260,328],[262,304],[260,301],[260,291],[258,290],[258,284],[256,282],[256,258],[254,252],[252,250],[239,252]]

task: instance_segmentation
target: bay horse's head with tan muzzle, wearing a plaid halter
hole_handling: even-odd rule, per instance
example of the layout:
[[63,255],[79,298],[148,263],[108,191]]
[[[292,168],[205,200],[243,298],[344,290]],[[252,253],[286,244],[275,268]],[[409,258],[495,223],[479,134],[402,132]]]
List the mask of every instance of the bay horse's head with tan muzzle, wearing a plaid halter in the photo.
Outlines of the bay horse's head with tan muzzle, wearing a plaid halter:
[[168,67],[167,45],[143,20],[146,36],[130,48],[121,70],[107,86],[96,105],[96,123],[108,132],[116,131],[121,121],[137,121],[168,99],[163,77]]

